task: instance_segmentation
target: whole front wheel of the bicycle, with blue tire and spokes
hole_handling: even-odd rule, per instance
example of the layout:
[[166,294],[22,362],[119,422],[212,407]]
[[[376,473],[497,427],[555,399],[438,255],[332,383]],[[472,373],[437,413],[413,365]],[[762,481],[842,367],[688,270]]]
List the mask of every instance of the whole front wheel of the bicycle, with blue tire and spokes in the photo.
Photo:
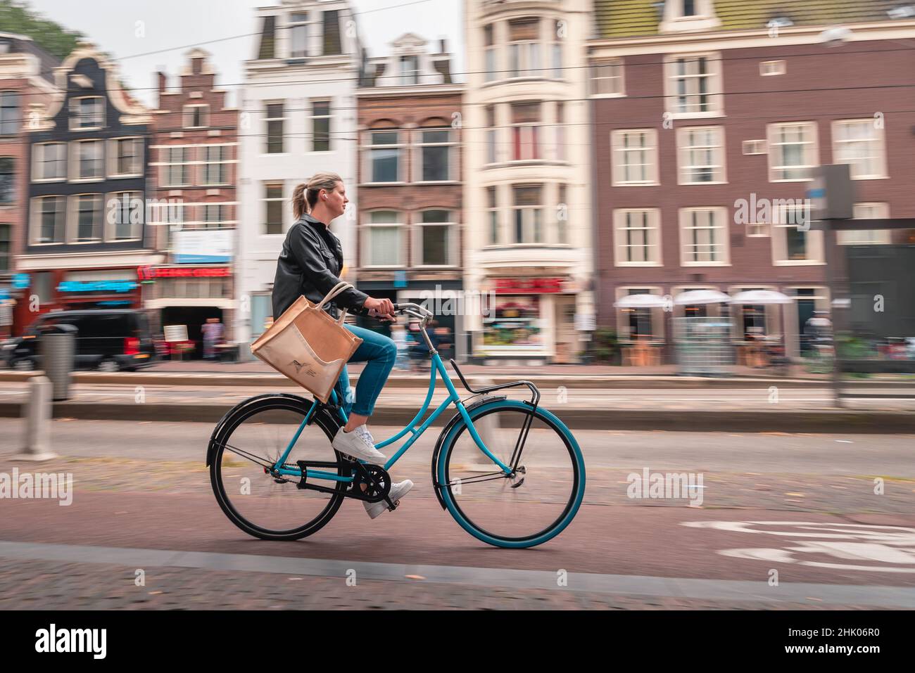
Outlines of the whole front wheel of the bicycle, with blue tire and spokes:
[[[447,433],[438,455],[438,484],[460,526],[497,547],[533,547],[554,538],[585,497],[585,462],[575,437],[552,413],[503,400],[469,411],[479,436],[507,476],[480,451],[467,423]],[[528,425],[526,436],[525,424]]]

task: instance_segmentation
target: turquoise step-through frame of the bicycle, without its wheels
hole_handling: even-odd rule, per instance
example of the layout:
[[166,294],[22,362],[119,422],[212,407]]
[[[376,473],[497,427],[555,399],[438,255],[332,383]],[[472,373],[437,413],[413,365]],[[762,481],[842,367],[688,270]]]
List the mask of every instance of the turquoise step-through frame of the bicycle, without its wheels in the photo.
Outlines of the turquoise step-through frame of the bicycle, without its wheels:
[[[424,336],[425,336],[425,332],[424,332]],[[428,337],[426,337],[426,340],[428,340]],[[402,431],[393,435],[392,437],[389,437],[388,439],[384,440],[381,443],[375,444],[375,446],[376,446],[376,448],[382,448],[383,446],[387,446],[393,442],[396,442],[397,440],[401,439],[402,437],[404,437],[404,435],[406,433],[413,433],[413,436],[410,437],[404,443],[404,445],[400,449],[397,450],[397,453],[393,454],[393,456],[388,458],[387,463],[385,463],[382,466],[384,467],[384,469],[386,471],[390,470],[391,466],[397,462],[397,460],[404,454],[404,452],[407,451],[407,449],[409,449],[411,446],[413,446],[414,442],[420,437],[420,435],[425,433],[425,430],[429,427],[429,425],[432,424],[432,422],[434,422],[436,420],[436,418],[438,418],[439,415],[441,415],[442,411],[445,411],[450,404],[454,403],[455,406],[458,408],[458,413],[460,414],[461,418],[464,420],[465,423],[467,423],[470,436],[473,437],[473,441],[477,444],[477,446],[479,447],[479,450],[481,452],[483,452],[483,454],[486,454],[486,456],[488,458],[490,458],[490,460],[493,462],[493,464],[497,465],[499,467],[499,469],[503,473],[505,473],[505,475],[511,475],[512,468],[509,465],[503,464],[501,462],[501,460],[499,460],[499,458],[497,458],[495,455],[493,455],[492,452],[490,452],[490,449],[487,448],[486,444],[483,442],[483,439],[479,436],[479,433],[477,432],[477,428],[474,427],[473,421],[470,418],[470,414],[468,414],[468,411],[465,408],[463,401],[461,401],[460,396],[458,395],[458,390],[455,388],[454,383],[451,382],[450,377],[448,377],[448,375],[447,375],[447,370],[445,369],[445,365],[442,363],[442,358],[438,355],[438,352],[434,348],[431,347],[431,343],[429,344],[429,346],[430,346],[430,353],[432,356],[432,369],[429,372],[429,374],[430,374],[429,390],[425,395],[425,401],[423,402],[422,408],[416,413],[413,420],[411,422],[407,423],[406,427],[404,427],[404,429]],[[441,404],[439,404],[438,407],[436,408],[436,410],[433,411],[432,414],[429,416],[429,418],[427,418],[425,420],[425,422],[423,422],[423,424],[417,428],[416,423],[419,422],[419,420],[423,417],[423,415],[429,408],[429,404],[432,402],[432,396],[436,390],[436,374],[440,375],[442,377],[442,380],[445,382],[445,387],[447,388],[447,391],[448,391],[447,399],[445,401],[443,401]],[[460,375],[459,372],[458,372],[458,375]],[[463,377],[461,377],[461,379],[463,379]],[[518,383],[522,383],[522,382],[519,381]],[[526,383],[526,381],[524,381],[524,383]],[[509,384],[509,385],[515,385],[515,384]],[[495,388],[501,388],[501,387],[502,386],[496,386]],[[490,389],[483,389],[483,390],[486,391],[486,390],[490,390]],[[539,394],[537,394],[537,399],[539,399]],[[337,390],[333,390],[331,392],[330,400],[333,405],[338,404],[339,399],[337,396]],[[296,434],[292,438],[292,441],[289,443],[288,446],[286,446],[285,452],[283,453],[283,455],[281,455],[279,457],[279,459],[274,464],[275,474],[295,476],[295,477],[301,478],[302,471],[297,467],[296,468],[285,467],[284,466],[285,460],[286,460],[286,458],[289,457],[289,454],[292,452],[293,447],[296,445],[296,442],[298,441],[299,436],[305,430],[306,425],[308,424],[308,422],[311,421],[312,416],[314,415],[315,411],[318,409],[319,406],[321,406],[321,405],[318,403],[318,401],[315,401],[314,403],[312,403],[311,409],[308,410],[308,412],[305,416],[305,419],[299,425],[298,430],[296,431]],[[337,407],[337,409],[339,411],[340,419],[342,420],[342,422],[346,423],[347,422],[346,412],[343,411],[343,409],[339,406]],[[320,470],[307,470],[306,476],[307,476],[307,478],[328,479],[331,481],[347,482],[347,483],[352,481],[351,476],[340,476],[340,475],[335,475],[330,472],[323,472]]]

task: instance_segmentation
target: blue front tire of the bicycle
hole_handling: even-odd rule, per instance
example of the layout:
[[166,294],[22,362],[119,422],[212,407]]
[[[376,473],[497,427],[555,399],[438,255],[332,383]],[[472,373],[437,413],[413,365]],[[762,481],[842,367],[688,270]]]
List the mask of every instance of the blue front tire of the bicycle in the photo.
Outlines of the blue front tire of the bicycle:
[[[486,415],[503,410],[511,411],[531,411],[531,406],[517,400],[499,400],[492,401],[488,404],[481,404],[479,407],[469,411],[471,420],[475,422]],[[524,536],[506,536],[496,534],[486,529],[479,523],[475,523],[464,508],[460,507],[455,497],[454,488],[451,483],[451,460],[454,456],[455,447],[461,433],[468,430],[468,425],[463,419],[460,419],[447,433],[441,450],[436,459],[436,487],[440,489],[442,500],[451,516],[458,522],[458,525],[465,529],[474,538],[479,539],[495,547],[507,549],[521,549],[534,547],[553,539],[561,533],[575,518],[578,508],[585,497],[585,461],[581,454],[581,449],[576,442],[575,436],[552,412],[538,407],[534,411],[534,419],[541,422],[546,428],[550,428],[556,433],[565,445],[568,454],[571,456],[571,464],[574,474],[574,486],[569,495],[568,501],[562,514],[555,518],[554,521],[544,529],[524,535]],[[523,461],[522,450],[522,463]]]

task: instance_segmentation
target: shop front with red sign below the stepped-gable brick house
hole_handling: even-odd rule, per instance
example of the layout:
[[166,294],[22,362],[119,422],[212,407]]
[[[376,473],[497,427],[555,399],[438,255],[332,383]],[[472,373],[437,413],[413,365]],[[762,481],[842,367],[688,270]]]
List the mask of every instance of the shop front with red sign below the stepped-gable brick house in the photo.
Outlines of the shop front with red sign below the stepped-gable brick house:
[[[167,357],[237,358],[232,344],[232,269],[227,265],[164,265],[141,267],[137,276],[144,287],[145,307],[151,311],[154,331],[163,339]],[[205,350],[203,326],[221,324],[221,345]],[[167,329],[170,327],[171,329]],[[181,334],[178,341],[166,340]],[[185,338],[184,335],[187,335]]]

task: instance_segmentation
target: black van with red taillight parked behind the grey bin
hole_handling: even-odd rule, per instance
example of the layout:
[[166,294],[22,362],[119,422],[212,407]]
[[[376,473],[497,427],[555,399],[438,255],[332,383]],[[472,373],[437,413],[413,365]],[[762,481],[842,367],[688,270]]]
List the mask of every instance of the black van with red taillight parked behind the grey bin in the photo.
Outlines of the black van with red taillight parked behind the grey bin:
[[130,309],[56,311],[41,315],[5,348],[11,369],[40,369],[38,339],[57,325],[77,328],[75,369],[133,371],[156,359],[147,316]]

